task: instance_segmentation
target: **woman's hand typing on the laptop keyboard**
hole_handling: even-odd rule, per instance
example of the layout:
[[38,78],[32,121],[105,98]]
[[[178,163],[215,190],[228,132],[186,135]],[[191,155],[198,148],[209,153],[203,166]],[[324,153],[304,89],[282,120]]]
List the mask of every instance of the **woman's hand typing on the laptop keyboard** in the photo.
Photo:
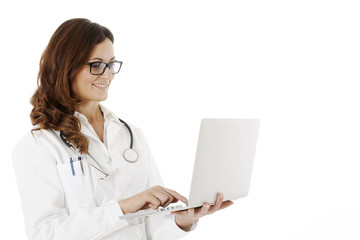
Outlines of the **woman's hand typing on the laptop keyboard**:
[[118,203],[124,214],[134,213],[138,210],[158,207],[167,207],[178,200],[187,204],[187,199],[171,189],[155,186],[133,197],[120,200]]

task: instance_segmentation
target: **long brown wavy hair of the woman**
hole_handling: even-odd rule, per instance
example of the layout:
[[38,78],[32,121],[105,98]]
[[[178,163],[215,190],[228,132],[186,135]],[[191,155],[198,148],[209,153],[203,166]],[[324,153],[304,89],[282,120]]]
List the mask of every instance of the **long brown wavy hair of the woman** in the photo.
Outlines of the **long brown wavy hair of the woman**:
[[38,125],[33,131],[60,131],[67,141],[87,153],[88,139],[74,116],[75,106],[81,101],[71,85],[95,45],[106,38],[114,42],[109,29],[84,18],[70,19],[58,27],[41,56],[38,87],[30,100],[31,122]]

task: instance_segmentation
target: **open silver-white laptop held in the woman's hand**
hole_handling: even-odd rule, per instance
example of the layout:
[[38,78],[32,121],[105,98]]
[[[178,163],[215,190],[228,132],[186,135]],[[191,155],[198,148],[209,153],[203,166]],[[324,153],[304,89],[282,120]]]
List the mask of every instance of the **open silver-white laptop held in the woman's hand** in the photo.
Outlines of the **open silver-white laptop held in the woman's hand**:
[[120,216],[132,219],[156,213],[182,211],[246,197],[258,138],[259,119],[202,119],[188,204],[140,210]]

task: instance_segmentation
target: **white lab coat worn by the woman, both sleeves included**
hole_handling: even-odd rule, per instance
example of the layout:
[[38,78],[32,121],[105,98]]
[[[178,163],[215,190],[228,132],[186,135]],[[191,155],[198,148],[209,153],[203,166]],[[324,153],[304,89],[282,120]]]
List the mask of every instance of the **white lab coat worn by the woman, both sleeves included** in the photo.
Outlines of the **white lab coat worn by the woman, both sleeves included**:
[[29,239],[169,240],[185,236],[171,215],[119,219],[123,213],[118,200],[162,185],[162,180],[141,131],[131,126],[139,160],[128,163],[122,153],[130,144],[129,131],[115,114],[101,109],[104,143],[84,115],[75,112],[75,116],[89,139],[90,154],[111,174],[106,180],[100,180],[104,174],[86,161],[82,161],[84,174],[79,162],[74,162],[73,176],[70,157],[76,160],[78,155],[61,141],[59,132],[41,130],[32,135],[29,131],[15,146],[13,164]]

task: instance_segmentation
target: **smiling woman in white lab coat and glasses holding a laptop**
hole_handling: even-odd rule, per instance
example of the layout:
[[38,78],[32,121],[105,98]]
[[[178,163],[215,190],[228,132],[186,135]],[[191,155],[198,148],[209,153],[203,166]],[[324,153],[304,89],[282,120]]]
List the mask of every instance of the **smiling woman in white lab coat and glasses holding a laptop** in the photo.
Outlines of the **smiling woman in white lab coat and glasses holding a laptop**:
[[[35,128],[13,152],[29,239],[177,239],[200,217],[232,204],[219,194],[213,206],[119,219],[187,199],[162,187],[141,131],[99,104],[122,65],[113,42],[107,28],[71,19],[41,57],[31,98]],[[131,142],[136,152],[127,156]]]

